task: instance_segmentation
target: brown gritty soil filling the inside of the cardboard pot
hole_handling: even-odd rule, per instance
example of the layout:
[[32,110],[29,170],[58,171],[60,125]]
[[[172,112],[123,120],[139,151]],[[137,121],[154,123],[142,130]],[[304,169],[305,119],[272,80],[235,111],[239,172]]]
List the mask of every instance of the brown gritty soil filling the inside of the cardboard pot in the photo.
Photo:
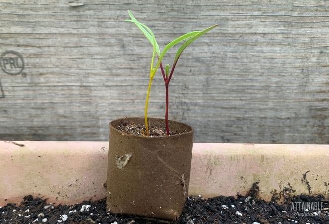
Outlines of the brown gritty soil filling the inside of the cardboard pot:
[[[118,127],[118,130],[127,132],[129,134],[133,135],[142,135],[145,136],[146,134],[146,128],[145,125],[141,124],[135,124],[135,123],[128,123],[128,122],[122,122],[120,126]],[[176,131],[170,131],[170,135],[178,134]],[[163,126],[150,126],[149,127],[149,136],[166,136],[166,130],[165,130],[165,124]]]

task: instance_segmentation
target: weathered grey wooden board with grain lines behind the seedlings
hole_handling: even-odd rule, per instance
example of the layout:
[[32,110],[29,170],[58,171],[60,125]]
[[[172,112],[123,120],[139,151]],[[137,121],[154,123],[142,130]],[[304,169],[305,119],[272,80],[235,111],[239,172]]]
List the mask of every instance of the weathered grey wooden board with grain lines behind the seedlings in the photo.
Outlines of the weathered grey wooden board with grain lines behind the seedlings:
[[[107,140],[111,119],[143,116],[152,49],[123,21],[127,9],[162,47],[219,24],[186,49],[171,81],[170,118],[192,125],[195,142],[329,144],[320,0],[1,0],[0,54],[22,54],[26,73],[0,70],[1,140]],[[164,107],[158,73],[149,115]]]

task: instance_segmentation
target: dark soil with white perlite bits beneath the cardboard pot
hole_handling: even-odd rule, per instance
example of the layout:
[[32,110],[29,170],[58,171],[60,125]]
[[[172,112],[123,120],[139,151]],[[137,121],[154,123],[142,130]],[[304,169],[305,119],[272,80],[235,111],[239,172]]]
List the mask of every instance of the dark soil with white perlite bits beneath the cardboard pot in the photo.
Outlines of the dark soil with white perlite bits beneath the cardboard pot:
[[[256,189],[257,190],[257,189]],[[292,203],[318,204],[317,209],[293,209]],[[257,199],[257,192],[248,196],[219,196],[205,200],[202,196],[188,197],[178,224],[329,224],[329,200],[323,197],[285,197],[283,204]],[[0,208],[1,224],[154,224],[161,220],[137,216],[115,215],[106,211],[105,199],[85,201],[75,205],[51,205],[40,198],[24,197],[16,207]],[[166,222],[169,223],[169,222]]]

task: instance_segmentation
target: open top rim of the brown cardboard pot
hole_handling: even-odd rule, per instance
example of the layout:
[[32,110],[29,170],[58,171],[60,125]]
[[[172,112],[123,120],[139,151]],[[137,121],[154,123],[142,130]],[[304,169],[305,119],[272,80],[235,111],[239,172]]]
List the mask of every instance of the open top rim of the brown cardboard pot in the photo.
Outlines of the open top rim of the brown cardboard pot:
[[[193,128],[190,126],[190,125],[187,125],[185,123],[182,123],[182,122],[178,122],[178,121],[175,121],[175,120],[169,120],[169,123],[178,123],[178,124],[183,124],[184,126],[186,126],[187,128],[189,128],[190,130],[189,131],[186,131],[186,132],[183,132],[183,133],[178,133],[178,134],[174,134],[174,135],[164,135],[164,136],[142,136],[142,135],[136,135],[136,134],[130,134],[128,132],[125,132],[125,131],[121,131],[121,130],[118,130],[117,127],[114,127],[112,124],[114,122],[117,122],[119,120],[124,120],[124,119],[144,119],[144,117],[139,117],[139,116],[136,116],[136,117],[124,117],[124,118],[119,118],[119,119],[115,119],[115,120],[111,120],[110,121],[110,128],[112,128],[113,130],[121,133],[121,134],[125,134],[125,135],[128,135],[128,136],[133,136],[133,137],[139,137],[139,138],[143,138],[143,139],[157,139],[157,138],[174,138],[174,137],[179,137],[179,136],[183,136],[183,135],[186,135],[186,134],[191,134],[193,133]],[[151,120],[162,120],[165,122],[165,119],[162,119],[162,118],[154,118],[154,117],[148,117],[148,121]]]

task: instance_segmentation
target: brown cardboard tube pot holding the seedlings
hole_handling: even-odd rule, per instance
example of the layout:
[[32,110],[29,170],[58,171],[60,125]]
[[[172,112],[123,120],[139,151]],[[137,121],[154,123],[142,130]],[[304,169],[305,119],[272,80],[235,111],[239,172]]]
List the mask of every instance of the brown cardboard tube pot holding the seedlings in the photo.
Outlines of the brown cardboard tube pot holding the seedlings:
[[[122,122],[144,124],[144,118],[110,122],[107,208],[112,213],[134,214],[175,221],[186,198],[191,171],[193,129],[170,121],[170,136],[139,136],[118,130]],[[149,118],[150,126],[164,119]]]

